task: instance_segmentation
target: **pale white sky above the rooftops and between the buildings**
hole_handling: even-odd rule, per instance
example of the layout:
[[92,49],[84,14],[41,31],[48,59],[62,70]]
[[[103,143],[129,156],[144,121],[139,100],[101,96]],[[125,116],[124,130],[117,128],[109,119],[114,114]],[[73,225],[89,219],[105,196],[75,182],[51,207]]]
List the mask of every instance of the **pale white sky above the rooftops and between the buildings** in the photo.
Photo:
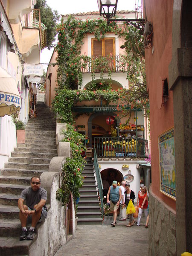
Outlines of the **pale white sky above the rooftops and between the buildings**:
[[[117,11],[135,9],[135,4],[141,0],[118,0]],[[57,10],[59,15],[61,14],[73,14],[77,12],[93,12],[99,11],[97,0],[47,0],[47,5],[52,10]],[[48,50],[43,49],[41,52],[41,63],[49,63],[53,52],[53,48]],[[44,65],[44,69],[47,70],[47,65]]]

